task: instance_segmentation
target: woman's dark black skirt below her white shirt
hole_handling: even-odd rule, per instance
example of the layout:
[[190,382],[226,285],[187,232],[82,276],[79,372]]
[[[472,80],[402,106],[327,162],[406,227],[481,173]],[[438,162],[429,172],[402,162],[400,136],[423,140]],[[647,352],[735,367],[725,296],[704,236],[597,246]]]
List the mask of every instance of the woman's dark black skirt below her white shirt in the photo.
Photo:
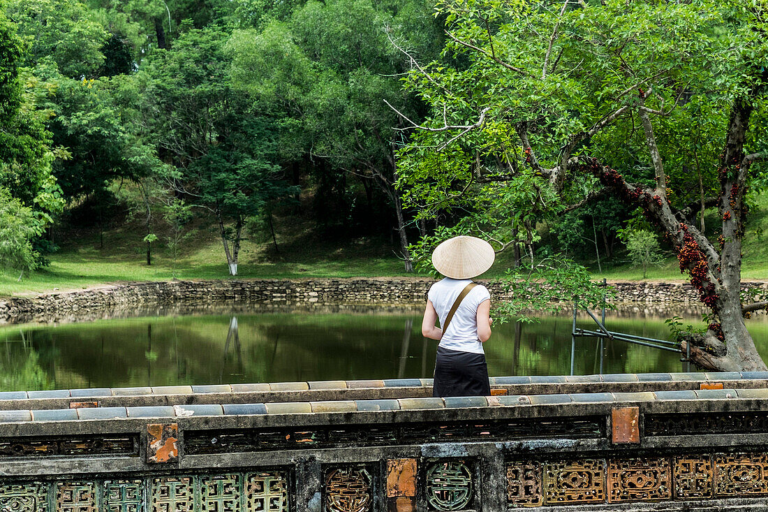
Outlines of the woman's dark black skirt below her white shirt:
[[433,397],[487,397],[491,394],[484,354],[437,347]]

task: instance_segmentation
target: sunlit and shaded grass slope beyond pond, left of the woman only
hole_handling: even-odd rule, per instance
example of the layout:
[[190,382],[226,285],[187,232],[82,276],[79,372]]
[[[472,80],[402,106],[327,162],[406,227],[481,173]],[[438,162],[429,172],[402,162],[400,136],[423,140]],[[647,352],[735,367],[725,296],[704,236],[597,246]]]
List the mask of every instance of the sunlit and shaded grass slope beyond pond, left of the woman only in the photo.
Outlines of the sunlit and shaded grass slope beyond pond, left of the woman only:
[[[217,231],[197,225],[184,241],[177,261],[178,279],[352,278],[405,274],[389,241],[362,239],[336,242],[316,239],[303,226],[279,234],[278,252],[268,242],[243,241],[237,278],[229,275]],[[280,231],[279,231],[280,232]],[[0,297],[44,291],[71,291],[100,284],[130,281],[168,281],[174,263],[161,242],[155,242],[147,265],[141,226],[123,225],[104,232],[86,232],[77,242],[65,241],[50,255],[51,264],[17,281],[18,274],[0,272]]]

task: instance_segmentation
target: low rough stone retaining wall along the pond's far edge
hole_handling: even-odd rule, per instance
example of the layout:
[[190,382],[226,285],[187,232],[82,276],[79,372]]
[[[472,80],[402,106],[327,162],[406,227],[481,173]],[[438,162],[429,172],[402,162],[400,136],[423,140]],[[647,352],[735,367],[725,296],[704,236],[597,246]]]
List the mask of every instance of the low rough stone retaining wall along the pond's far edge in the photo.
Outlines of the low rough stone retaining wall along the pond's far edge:
[[[302,280],[157,281],[130,283],[84,291],[41,294],[0,301],[0,324],[28,321],[114,318],[142,311],[178,308],[212,311],[221,306],[326,308],[329,304],[414,307],[424,303],[433,282],[428,278],[350,278]],[[503,298],[498,284],[485,282],[495,298]],[[634,310],[647,306],[697,307],[697,293],[689,284],[623,282],[612,284],[618,300]],[[756,289],[756,300],[768,298],[768,283],[744,283]]]

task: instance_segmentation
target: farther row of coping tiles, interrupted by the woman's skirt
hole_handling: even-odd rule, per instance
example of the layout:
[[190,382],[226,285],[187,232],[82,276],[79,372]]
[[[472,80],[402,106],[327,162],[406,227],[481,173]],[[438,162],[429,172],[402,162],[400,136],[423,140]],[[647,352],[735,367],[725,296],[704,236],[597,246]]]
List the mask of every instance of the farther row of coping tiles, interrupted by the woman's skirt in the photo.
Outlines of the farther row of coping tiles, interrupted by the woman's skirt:
[[[530,377],[490,377],[492,386],[513,388],[531,384],[624,384],[661,382],[766,381],[768,371],[728,371],[702,373],[534,375]],[[92,387],[50,391],[2,391],[0,401],[61,398],[141,397],[200,394],[290,393],[301,391],[339,391],[365,389],[432,387],[432,379],[382,379],[368,381],[306,381],[257,384],[211,384],[156,387]]]

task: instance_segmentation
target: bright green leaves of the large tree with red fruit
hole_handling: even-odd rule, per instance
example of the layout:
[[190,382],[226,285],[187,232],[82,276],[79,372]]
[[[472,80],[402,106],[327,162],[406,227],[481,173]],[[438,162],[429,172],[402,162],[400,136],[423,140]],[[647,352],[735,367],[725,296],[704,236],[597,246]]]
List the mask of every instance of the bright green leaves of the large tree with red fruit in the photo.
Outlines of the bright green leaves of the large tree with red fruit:
[[[675,207],[693,203],[695,214],[719,191],[729,107],[768,53],[755,35],[765,28],[763,9],[710,0],[439,2],[449,35],[442,58],[405,80],[429,115],[399,151],[403,201],[421,218],[448,224],[440,236],[461,231],[511,248],[521,238],[536,243],[546,223],[569,248],[580,240],[594,246],[629,212],[614,201],[563,215],[601,187],[581,162],[598,158],[627,181],[655,186],[639,118],[647,108],[667,169],[660,186]],[[756,108],[762,126],[763,97]],[[750,137],[747,151],[763,148],[759,135]],[[419,242],[422,257],[434,241]],[[646,265],[652,252],[644,251]],[[580,275],[567,264],[551,278],[558,287],[588,286]],[[543,307],[538,296],[529,299]]]

